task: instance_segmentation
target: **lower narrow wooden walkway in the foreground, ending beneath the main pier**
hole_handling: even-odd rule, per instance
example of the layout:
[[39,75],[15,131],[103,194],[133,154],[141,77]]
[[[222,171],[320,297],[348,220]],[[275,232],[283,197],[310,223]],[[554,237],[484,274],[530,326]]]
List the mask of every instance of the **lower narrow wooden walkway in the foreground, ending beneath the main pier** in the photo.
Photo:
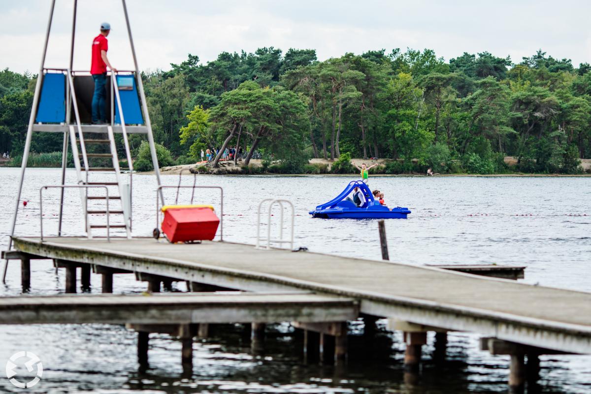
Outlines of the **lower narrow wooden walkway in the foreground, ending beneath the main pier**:
[[346,321],[355,301],[306,292],[0,297],[0,324],[207,324]]

